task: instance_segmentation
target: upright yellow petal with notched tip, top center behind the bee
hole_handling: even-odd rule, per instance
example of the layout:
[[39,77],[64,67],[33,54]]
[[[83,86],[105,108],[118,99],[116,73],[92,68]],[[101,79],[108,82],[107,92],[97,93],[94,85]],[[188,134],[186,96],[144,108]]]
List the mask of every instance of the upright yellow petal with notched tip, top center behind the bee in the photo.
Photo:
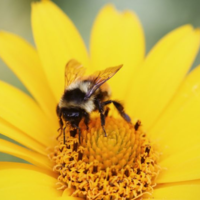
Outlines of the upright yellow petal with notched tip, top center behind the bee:
[[109,84],[114,98],[124,99],[129,91],[128,83],[145,53],[144,34],[138,17],[131,11],[119,13],[112,5],[105,6],[95,20],[90,50],[93,71],[123,64]]

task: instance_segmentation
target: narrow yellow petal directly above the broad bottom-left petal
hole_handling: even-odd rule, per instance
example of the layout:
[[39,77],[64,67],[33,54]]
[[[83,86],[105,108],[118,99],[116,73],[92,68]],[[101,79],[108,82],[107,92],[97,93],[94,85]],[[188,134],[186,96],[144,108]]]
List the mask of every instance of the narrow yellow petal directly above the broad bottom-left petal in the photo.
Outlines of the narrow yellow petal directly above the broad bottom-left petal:
[[19,157],[47,170],[52,169],[51,162],[49,161],[47,156],[43,156],[34,151],[25,149],[24,147],[20,147],[6,140],[0,139],[0,152]]

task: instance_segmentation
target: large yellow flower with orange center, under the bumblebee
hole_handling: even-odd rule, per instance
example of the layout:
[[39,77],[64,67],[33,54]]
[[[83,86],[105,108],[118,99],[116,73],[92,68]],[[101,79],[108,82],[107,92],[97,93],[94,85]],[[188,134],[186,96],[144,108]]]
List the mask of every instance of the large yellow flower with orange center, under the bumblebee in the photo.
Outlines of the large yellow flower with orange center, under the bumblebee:
[[[88,73],[123,64],[122,70],[109,81],[113,99],[124,101],[126,111],[134,123],[137,119],[142,121],[142,127],[138,130],[129,127],[120,118],[109,117],[106,123],[108,134],[117,137],[121,142],[123,136],[127,142],[123,144],[121,155],[117,155],[118,159],[121,159],[121,162],[118,162],[121,171],[117,173],[121,173],[119,175],[122,176],[123,171],[128,178],[129,174],[134,174],[135,178],[129,181],[132,181],[131,184],[135,187],[133,183],[139,181],[141,190],[138,187],[125,186],[120,181],[108,185],[107,175],[103,182],[107,184],[106,187],[119,186],[119,190],[114,191],[115,197],[119,199],[122,199],[123,195],[126,195],[123,196],[124,199],[129,198],[130,194],[131,199],[199,199],[200,67],[186,76],[199,49],[199,30],[194,30],[190,25],[182,26],[161,39],[144,57],[144,35],[137,16],[130,11],[118,13],[110,5],[101,10],[94,23],[90,56],[73,23],[50,1],[33,3],[32,28],[36,49],[16,35],[0,33],[0,57],[20,78],[33,97],[0,82],[0,133],[25,146],[1,139],[0,151],[33,164],[1,162],[0,198],[78,199],[71,196],[74,193],[75,196],[94,199],[95,191],[89,190],[85,193],[82,185],[77,186],[78,181],[70,182],[68,178],[67,185],[62,182],[66,176],[76,175],[75,178],[81,179],[86,174],[84,180],[89,184],[95,175],[93,172],[84,172],[83,176],[78,176],[80,172],[72,173],[73,167],[68,168],[68,173],[62,172],[63,169],[67,170],[67,162],[72,164],[72,160],[69,162],[67,158],[69,150],[71,147],[77,148],[73,146],[73,141],[68,141],[68,145],[72,144],[69,148],[65,145],[58,148],[59,144],[55,139],[59,127],[55,108],[63,92],[64,66],[74,58],[87,66]],[[110,169],[114,169],[110,158],[106,162],[106,156],[115,156],[112,153],[119,148],[119,145],[115,148],[113,138],[109,137],[102,137],[102,143],[98,144],[102,150],[95,147],[97,144],[94,137],[100,134],[99,127],[99,121],[93,118],[89,129],[91,134],[86,130],[83,130],[82,134],[85,140],[83,144],[89,145],[90,152],[87,153],[90,155],[88,160],[81,164],[93,165],[95,171],[98,171],[100,165],[103,166],[102,176],[98,173],[97,182],[105,173],[109,174]],[[104,140],[108,149],[114,146],[108,153]],[[139,150],[134,149],[136,145],[139,146]],[[151,149],[147,148],[148,145]],[[52,146],[55,146],[54,151],[51,150]],[[96,156],[97,150],[101,151],[98,154],[100,157]],[[135,168],[131,168],[130,162],[128,166],[124,161],[130,152],[136,154],[134,158],[138,158],[139,154],[145,156],[146,160],[150,159],[149,163],[140,157],[137,165],[134,161]],[[71,153],[75,159],[77,154],[73,151]],[[55,166],[52,159],[56,163]],[[58,165],[63,159],[64,165]],[[90,159],[97,159],[97,168],[94,168],[96,161],[91,162]],[[139,170],[135,173],[136,168],[144,171],[140,173]],[[119,177],[117,173],[113,175],[116,179]],[[71,186],[71,189],[58,190],[60,182],[57,178],[61,180],[63,188]],[[74,180],[74,177],[71,177],[71,180]],[[149,182],[152,184],[146,185]],[[120,187],[120,184],[123,187]],[[152,190],[145,190],[148,186]],[[80,191],[80,188],[83,190]],[[101,188],[99,190],[102,191]],[[106,189],[104,192],[106,199],[109,199]]]

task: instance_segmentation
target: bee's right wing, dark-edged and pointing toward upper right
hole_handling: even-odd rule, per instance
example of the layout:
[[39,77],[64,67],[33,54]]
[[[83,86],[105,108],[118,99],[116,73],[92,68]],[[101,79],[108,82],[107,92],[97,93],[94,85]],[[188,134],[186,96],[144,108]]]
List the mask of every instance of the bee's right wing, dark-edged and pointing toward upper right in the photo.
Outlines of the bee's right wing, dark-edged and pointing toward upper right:
[[109,67],[105,70],[95,72],[91,77],[89,78],[92,82],[91,87],[89,88],[88,92],[86,93],[85,98],[90,98],[90,96],[107,80],[109,80],[111,77],[113,77],[120,69],[122,65],[119,65],[117,67]]

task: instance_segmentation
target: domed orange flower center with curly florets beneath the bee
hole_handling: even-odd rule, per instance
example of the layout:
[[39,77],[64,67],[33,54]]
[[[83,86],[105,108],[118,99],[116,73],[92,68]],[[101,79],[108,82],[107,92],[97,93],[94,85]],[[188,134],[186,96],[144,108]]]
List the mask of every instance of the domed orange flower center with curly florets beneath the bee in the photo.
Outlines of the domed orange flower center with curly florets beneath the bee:
[[66,144],[60,140],[51,155],[60,189],[72,188],[74,196],[91,200],[135,199],[152,192],[160,170],[158,153],[139,122],[108,117],[107,137],[98,118],[88,130],[83,123],[80,127],[80,145],[78,136],[66,131]]

